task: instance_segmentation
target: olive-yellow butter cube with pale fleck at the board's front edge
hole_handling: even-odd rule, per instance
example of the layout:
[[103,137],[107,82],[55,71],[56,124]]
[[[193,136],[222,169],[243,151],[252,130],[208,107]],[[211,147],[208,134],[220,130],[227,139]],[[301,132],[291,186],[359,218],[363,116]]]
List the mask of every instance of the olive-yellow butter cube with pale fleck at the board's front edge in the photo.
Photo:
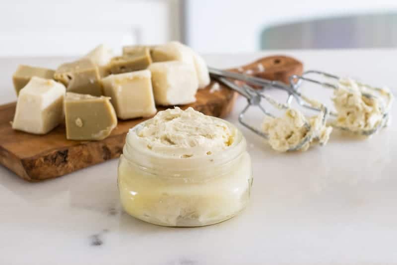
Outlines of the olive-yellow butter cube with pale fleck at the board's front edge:
[[64,104],[69,140],[102,140],[117,126],[109,97],[67,92]]

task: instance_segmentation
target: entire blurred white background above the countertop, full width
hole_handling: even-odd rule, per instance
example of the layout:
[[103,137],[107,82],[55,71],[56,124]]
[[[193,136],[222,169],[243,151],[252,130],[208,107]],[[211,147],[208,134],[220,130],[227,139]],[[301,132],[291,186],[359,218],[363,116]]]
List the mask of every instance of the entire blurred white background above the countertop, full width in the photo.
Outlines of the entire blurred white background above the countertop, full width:
[[13,0],[0,56],[180,40],[201,53],[397,47],[397,0]]

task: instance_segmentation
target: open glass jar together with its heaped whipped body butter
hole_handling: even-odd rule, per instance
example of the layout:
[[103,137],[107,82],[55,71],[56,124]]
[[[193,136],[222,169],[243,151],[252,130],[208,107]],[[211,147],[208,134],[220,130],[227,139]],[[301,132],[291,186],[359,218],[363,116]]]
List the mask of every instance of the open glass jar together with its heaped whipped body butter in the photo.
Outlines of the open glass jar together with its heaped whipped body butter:
[[162,226],[222,222],[246,206],[246,140],[231,123],[193,108],[160,111],[130,129],[118,169],[127,213]]

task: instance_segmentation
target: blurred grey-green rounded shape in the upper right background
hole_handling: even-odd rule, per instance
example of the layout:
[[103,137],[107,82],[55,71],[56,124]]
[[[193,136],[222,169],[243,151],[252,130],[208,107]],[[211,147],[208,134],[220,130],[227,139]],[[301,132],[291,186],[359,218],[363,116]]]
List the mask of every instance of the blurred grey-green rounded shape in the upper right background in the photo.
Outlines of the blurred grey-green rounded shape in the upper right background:
[[397,13],[313,19],[266,27],[262,49],[397,47]]

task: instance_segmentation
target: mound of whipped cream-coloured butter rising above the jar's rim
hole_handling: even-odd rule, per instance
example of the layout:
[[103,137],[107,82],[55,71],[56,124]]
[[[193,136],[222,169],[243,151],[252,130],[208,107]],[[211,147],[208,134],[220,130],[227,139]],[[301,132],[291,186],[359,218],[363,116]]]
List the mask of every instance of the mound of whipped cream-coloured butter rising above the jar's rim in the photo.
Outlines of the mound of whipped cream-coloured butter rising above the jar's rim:
[[136,131],[146,148],[156,153],[189,158],[211,155],[233,143],[235,132],[226,122],[192,107],[159,111]]

